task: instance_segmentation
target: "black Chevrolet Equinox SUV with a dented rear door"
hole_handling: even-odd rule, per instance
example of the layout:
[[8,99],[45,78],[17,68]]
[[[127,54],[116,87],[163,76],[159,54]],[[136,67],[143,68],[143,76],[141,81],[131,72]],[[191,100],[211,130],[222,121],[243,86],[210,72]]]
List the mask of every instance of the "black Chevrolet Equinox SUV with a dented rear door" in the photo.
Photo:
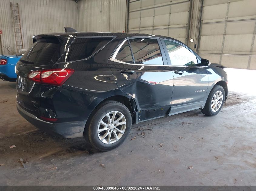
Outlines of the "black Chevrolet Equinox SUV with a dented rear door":
[[228,96],[223,66],[173,38],[68,32],[33,41],[15,68],[18,112],[100,151],[121,145],[132,123],[198,108],[213,116]]

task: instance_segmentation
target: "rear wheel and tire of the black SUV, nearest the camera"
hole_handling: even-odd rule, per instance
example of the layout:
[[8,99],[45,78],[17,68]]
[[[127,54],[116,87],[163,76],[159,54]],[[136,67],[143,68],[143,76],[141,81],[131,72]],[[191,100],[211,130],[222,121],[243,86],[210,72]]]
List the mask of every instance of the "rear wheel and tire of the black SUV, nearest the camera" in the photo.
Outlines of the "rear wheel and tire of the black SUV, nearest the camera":
[[[112,120],[111,118],[113,118],[114,114],[115,119]],[[123,114],[123,117],[121,114]],[[117,101],[106,101],[97,106],[88,119],[84,137],[97,150],[110,151],[125,141],[130,133],[131,124],[131,113],[124,104]]]

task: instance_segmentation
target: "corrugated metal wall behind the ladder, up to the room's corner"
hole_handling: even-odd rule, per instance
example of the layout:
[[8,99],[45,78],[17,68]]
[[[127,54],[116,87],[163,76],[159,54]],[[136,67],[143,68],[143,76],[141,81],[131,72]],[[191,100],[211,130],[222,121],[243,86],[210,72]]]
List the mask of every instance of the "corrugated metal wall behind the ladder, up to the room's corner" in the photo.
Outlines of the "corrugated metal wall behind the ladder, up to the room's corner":
[[[64,32],[64,27],[78,28],[78,4],[70,0],[0,0],[2,46],[15,53],[10,2],[19,4],[24,48],[32,44],[32,36]],[[3,47],[3,53],[8,50]]]

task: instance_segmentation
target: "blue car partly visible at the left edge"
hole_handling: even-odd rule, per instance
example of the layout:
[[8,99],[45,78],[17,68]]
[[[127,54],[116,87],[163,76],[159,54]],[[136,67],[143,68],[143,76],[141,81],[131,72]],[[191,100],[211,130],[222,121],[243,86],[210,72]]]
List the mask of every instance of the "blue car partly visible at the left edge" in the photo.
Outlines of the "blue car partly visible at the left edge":
[[25,51],[17,55],[1,55],[0,54],[0,79],[4,81],[16,81],[15,66]]

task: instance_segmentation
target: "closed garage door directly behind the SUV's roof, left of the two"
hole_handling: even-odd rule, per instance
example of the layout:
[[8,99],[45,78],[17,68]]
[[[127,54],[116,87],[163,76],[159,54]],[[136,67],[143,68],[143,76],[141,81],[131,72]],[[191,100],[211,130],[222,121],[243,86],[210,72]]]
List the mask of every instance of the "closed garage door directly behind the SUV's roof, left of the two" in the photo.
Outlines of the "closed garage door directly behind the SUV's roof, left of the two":
[[130,0],[128,32],[173,37],[186,43],[190,1]]

